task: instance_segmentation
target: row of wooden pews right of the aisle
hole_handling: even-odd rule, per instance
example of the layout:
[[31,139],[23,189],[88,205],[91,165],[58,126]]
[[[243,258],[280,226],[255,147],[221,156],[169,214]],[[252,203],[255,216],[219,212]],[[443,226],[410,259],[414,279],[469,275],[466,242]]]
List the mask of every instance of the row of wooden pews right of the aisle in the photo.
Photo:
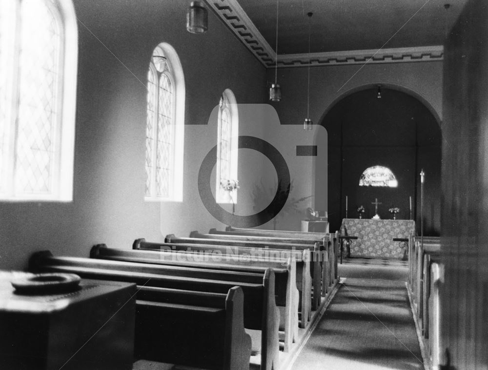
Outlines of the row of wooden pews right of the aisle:
[[440,248],[439,237],[415,236],[408,251],[408,289],[429,369],[440,363],[439,285],[443,278]]

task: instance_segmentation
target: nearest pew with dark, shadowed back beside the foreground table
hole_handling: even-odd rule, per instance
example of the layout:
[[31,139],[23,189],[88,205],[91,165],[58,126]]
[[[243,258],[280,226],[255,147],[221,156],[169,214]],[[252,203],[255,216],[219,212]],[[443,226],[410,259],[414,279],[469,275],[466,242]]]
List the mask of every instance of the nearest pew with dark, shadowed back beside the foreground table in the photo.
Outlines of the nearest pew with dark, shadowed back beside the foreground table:
[[[167,294],[162,290],[138,294],[142,297],[136,301],[137,359],[248,370],[251,337],[244,331],[242,289],[233,287],[227,294],[193,293]],[[203,296],[205,303],[195,299]]]

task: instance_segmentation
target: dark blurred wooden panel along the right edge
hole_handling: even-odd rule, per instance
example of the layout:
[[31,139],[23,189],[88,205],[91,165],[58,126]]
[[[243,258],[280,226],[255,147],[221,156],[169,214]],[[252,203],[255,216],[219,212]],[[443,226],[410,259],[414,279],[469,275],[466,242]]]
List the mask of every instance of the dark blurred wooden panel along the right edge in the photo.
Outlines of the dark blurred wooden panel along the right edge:
[[468,1],[445,44],[442,348],[448,369],[487,369],[488,7]]

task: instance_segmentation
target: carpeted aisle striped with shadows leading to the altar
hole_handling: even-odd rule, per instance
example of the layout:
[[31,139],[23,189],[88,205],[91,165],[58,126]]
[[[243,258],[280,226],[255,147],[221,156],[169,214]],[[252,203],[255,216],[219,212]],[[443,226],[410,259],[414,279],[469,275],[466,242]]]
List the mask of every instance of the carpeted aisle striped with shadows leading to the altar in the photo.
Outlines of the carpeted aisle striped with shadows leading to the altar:
[[[376,271],[382,268],[370,266],[365,273],[360,267],[364,277],[343,278],[293,370],[424,369],[404,268],[395,267],[396,279],[389,268],[384,275]],[[354,270],[342,276],[358,275]],[[390,280],[369,278],[390,275]]]

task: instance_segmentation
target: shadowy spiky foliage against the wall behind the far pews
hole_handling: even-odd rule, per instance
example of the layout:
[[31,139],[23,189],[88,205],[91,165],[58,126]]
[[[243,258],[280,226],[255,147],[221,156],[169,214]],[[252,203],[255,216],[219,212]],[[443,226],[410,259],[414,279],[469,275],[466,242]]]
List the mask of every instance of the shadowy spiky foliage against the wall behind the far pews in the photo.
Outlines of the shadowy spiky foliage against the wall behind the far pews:
[[[279,210],[278,208],[270,208],[268,213],[270,215],[275,215],[272,218],[273,230],[276,230],[279,219],[283,220],[286,215],[303,213],[304,211],[299,208],[300,203],[304,202],[306,199],[311,198],[313,195],[303,196],[301,198],[295,198],[290,196],[293,190],[293,180],[288,184],[286,188],[283,187],[281,180],[278,183],[274,183],[274,186],[265,186],[263,180],[259,184],[255,183],[252,189],[252,199],[253,199],[253,210],[260,211],[267,207],[271,200],[277,196],[277,204],[281,204],[280,200],[286,199],[288,194],[288,199],[286,200],[285,206]],[[263,205],[266,207],[263,207]]]

